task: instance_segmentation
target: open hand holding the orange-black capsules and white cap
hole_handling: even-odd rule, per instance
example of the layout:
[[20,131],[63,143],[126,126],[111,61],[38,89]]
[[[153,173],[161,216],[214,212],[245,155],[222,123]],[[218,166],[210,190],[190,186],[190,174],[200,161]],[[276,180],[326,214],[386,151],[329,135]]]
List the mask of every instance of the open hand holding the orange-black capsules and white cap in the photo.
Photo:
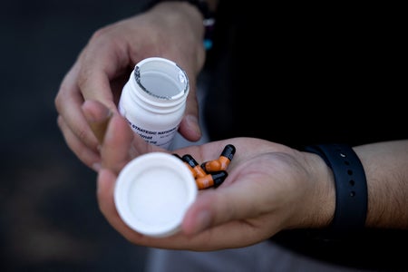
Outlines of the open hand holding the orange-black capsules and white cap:
[[180,233],[150,238],[128,228],[113,202],[120,170],[134,156],[163,151],[146,144],[116,114],[102,145],[98,201],[113,228],[132,243],[157,248],[214,250],[246,247],[281,229],[320,228],[331,221],[335,189],[331,171],[312,153],[254,138],[234,138],[173,151],[199,162],[219,158],[227,144],[236,147],[228,177],[217,189],[201,189],[186,213]]

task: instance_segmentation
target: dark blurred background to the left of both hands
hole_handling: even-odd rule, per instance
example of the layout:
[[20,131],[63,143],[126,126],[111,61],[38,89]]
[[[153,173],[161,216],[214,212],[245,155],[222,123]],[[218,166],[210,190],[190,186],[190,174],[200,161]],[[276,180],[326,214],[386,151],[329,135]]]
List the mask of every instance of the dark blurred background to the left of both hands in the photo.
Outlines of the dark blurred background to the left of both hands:
[[92,33],[144,1],[2,1],[0,271],[142,271],[146,248],[102,217],[53,99]]

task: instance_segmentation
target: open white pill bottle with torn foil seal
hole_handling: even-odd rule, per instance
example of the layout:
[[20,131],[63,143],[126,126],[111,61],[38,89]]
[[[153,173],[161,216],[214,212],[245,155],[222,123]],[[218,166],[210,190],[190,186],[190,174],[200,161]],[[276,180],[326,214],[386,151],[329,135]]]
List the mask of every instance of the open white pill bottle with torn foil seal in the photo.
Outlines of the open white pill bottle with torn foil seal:
[[186,109],[189,78],[177,63],[150,57],[136,63],[118,109],[145,141],[170,149]]

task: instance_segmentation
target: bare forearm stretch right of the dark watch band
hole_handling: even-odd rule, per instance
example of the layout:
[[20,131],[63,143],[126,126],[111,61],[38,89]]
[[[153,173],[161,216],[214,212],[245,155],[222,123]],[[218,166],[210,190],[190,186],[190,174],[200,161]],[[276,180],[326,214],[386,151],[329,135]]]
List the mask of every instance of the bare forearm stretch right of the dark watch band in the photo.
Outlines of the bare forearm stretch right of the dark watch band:
[[368,189],[365,226],[408,228],[408,140],[355,147]]

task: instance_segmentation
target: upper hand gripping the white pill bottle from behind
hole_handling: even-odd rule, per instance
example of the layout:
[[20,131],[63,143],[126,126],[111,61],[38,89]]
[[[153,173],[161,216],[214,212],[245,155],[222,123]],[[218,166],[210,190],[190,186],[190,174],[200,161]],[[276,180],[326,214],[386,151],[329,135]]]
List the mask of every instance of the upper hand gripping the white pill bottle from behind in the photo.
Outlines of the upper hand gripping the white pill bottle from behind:
[[168,58],[189,75],[190,92],[179,131],[187,140],[198,141],[201,132],[195,91],[205,59],[202,35],[199,12],[178,2],[161,3],[149,12],[96,31],[55,97],[58,125],[74,154],[88,167],[100,169],[100,143],[83,115],[83,102],[99,101],[117,113],[121,89],[135,63],[150,56]]

